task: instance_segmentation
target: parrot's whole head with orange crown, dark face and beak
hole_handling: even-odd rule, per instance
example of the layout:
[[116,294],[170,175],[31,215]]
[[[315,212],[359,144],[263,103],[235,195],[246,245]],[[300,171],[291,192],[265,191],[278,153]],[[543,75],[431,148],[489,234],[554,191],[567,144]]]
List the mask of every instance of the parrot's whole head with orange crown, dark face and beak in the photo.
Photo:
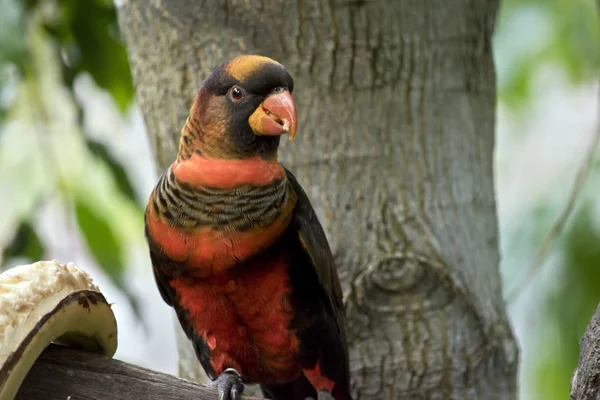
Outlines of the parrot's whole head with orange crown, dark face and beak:
[[296,135],[293,89],[291,75],[270,58],[244,55],[224,63],[196,95],[187,146],[211,158],[276,159],[280,136]]

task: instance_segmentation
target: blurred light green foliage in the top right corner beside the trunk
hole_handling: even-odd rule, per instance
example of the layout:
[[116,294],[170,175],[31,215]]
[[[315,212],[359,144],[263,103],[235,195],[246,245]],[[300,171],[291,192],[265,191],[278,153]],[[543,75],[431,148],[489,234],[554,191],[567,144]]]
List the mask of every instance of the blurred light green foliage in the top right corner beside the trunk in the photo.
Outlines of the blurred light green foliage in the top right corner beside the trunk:
[[[572,83],[600,70],[600,23],[595,0],[504,0],[496,37],[499,98],[519,109],[530,98],[540,66],[560,66]],[[518,38],[518,40],[515,40]],[[510,56],[505,56],[510,55]]]

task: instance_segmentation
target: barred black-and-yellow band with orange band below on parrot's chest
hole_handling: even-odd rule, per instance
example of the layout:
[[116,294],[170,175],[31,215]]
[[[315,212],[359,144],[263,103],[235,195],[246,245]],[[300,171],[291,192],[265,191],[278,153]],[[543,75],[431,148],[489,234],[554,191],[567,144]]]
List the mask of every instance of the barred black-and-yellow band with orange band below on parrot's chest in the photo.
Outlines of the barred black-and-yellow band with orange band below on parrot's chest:
[[218,187],[197,176],[179,179],[187,171],[175,168],[165,171],[150,196],[148,234],[164,254],[200,276],[223,272],[267,248],[291,220],[296,195],[285,173]]

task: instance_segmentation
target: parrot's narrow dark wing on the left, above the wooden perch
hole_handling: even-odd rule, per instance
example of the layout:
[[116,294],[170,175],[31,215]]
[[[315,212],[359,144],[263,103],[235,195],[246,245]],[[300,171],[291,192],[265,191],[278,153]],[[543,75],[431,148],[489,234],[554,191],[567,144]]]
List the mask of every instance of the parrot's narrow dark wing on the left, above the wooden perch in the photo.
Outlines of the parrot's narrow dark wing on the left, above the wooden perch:
[[150,260],[152,261],[152,271],[154,272],[154,279],[158,291],[162,296],[165,303],[173,307],[177,314],[177,319],[181,324],[181,328],[185,332],[185,335],[190,339],[196,352],[196,357],[200,361],[200,365],[204,368],[204,372],[210,379],[214,379],[213,366],[210,363],[210,348],[206,344],[206,341],[194,332],[192,325],[189,323],[187,318],[187,311],[179,306],[177,302],[175,290],[169,285],[171,276],[165,271],[178,271],[181,266],[177,262],[170,259],[168,256],[162,254],[158,246],[152,241],[152,238],[148,234],[146,229],[146,240],[150,247]]

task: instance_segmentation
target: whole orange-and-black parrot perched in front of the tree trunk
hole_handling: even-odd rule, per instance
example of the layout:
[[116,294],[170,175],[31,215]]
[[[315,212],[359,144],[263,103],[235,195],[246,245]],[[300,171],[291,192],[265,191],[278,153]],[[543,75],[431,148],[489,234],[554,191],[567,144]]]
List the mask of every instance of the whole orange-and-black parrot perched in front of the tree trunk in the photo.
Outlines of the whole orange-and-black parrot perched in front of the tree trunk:
[[297,132],[293,89],[261,55],[214,69],[145,210],[156,285],[219,400],[254,383],[274,400],[352,400],[331,248],[278,161],[281,136]]

